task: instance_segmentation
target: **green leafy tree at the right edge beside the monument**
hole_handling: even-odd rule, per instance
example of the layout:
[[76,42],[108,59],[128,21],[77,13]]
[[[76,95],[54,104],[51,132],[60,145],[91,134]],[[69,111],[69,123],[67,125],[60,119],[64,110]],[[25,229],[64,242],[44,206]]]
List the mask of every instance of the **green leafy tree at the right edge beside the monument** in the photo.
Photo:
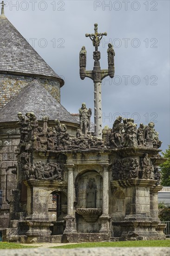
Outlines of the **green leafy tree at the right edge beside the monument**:
[[167,160],[160,164],[161,168],[161,185],[164,187],[170,187],[170,145],[169,148],[163,153],[163,157],[166,157]]

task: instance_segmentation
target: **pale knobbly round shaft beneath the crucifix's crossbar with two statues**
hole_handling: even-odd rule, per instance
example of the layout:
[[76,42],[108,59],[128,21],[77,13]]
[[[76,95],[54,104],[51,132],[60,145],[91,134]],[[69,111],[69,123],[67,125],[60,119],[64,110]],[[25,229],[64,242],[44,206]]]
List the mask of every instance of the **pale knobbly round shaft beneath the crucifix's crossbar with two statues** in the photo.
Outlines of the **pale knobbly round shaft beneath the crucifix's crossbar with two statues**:
[[102,138],[102,86],[101,82],[94,82],[94,124],[95,134]]

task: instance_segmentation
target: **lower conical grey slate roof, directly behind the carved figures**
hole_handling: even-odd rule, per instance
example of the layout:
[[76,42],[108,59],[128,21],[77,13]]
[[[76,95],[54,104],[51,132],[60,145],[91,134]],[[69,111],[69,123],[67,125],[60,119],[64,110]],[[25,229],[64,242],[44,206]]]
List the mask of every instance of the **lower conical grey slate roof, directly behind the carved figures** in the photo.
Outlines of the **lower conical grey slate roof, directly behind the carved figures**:
[[13,100],[0,109],[0,122],[18,121],[18,112],[23,115],[34,112],[38,120],[48,116],[49,120],[79,123],[37,80],[28,83]]

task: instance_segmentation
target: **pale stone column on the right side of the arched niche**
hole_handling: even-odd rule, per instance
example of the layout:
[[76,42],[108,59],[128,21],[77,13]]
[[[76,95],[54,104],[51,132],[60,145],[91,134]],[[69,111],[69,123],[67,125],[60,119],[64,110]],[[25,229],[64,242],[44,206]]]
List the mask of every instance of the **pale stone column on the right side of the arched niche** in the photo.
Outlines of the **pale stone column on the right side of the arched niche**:
[[111,216],[109,215],[109,164],[103,165],[103,202],[102,202],[102,215],[100,220],[102,227],[100,233],[111,233],[109,228],[109,220]]

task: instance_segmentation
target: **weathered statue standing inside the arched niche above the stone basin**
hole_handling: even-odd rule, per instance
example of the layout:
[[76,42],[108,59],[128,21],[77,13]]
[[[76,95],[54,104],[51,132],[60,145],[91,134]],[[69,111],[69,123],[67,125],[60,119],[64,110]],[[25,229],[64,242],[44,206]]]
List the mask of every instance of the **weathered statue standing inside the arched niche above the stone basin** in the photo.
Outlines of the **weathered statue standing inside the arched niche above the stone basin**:
[[90,178],[86,189],[86,208],[96,208],[97,186],[94,178]]

